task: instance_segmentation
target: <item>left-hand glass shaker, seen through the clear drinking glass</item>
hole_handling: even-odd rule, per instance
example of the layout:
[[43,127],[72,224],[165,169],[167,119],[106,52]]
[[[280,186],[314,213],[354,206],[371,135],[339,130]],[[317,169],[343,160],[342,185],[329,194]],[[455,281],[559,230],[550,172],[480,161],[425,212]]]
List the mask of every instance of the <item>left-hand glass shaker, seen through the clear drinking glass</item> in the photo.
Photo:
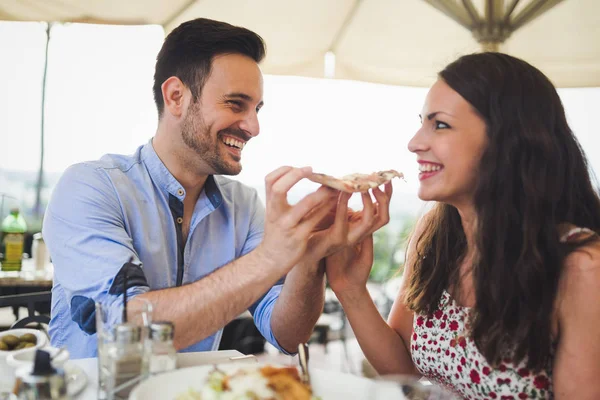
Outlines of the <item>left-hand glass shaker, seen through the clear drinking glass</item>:
[[115,342],[107,348],[109,399],[126,399],[147,375],[148,363],[139,326],[122,323],[114,328]]

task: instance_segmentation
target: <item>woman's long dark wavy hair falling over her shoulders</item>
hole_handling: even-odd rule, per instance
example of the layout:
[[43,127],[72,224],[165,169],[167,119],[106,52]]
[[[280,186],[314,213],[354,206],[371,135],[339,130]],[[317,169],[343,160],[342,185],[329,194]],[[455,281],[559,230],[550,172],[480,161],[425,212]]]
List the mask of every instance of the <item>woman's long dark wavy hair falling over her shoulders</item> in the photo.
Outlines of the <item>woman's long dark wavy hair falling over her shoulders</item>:
[[[565,257],[557,227],[600,232],[600,200],[556,89],[523,60],[501,53],[459,58],[439,73],[484,119],[488,145],[474,196],[476,305],[470,335],[492,365],[504,357],[539,370],[550,362],[551,324]],[[457,210],[437,204],[417,238],[405,301],[432,314],[459,287],[466,239]]]

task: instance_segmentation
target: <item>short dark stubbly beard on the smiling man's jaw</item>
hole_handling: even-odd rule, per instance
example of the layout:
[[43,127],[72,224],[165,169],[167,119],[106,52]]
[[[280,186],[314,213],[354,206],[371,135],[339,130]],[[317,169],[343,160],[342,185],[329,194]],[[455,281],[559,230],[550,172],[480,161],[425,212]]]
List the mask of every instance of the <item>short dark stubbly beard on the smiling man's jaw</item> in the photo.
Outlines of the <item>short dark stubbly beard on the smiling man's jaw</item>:
[[[211,137],[212,125],[207,126],[202,119],[200,104],[192,103],[188,113],[181,125],[181,139],[192,149],[217,175],[237,175],[242,171],[242,165],[238,162],[227,162],[221,155],[221,140],[219,134]],[[224,131],[227,131],[224,130]],[[240,136],[235,134],[234,136]],[[243,136],[241,136],[243,137]],[[225,157],[230,157],[229,154]]]

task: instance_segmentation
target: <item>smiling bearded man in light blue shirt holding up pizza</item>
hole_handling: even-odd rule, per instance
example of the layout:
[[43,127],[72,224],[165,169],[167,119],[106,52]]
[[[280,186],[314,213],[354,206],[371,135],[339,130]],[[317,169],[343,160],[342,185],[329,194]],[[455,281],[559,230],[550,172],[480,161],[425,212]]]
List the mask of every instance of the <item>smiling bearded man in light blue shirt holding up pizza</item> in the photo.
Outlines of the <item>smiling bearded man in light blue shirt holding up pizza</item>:
[[241,171],[259,133],[264,54],[247,29],[183,23],[157,57],[154,138],[133,156],[106,155],[61,177],[43,227],[54,346],[94,356],[94,303],[119,322],[125,286],[128,298],[152,303],[154,320],[174,323],[178,350],[217,350],[223,326],[245,310],[282,351],[310,337],[324,301],[321,260],[387,222],[391,193],[378,204],[363,196],[349,222],[348,196],[325,187],[288,204],[310,168],[269,174],[266,210],[255,190],[222,176]]

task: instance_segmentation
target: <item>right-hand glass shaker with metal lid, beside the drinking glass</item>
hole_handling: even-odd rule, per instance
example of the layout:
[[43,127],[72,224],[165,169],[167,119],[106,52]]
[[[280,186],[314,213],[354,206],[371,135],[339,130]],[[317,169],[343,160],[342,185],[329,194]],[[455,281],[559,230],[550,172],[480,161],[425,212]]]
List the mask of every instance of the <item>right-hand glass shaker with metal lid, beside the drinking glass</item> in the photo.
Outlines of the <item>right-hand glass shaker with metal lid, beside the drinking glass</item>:
[[177,352],[173,345],[174,333],[171,322],[153,322],[150,325],[150,374],[175,369]]

